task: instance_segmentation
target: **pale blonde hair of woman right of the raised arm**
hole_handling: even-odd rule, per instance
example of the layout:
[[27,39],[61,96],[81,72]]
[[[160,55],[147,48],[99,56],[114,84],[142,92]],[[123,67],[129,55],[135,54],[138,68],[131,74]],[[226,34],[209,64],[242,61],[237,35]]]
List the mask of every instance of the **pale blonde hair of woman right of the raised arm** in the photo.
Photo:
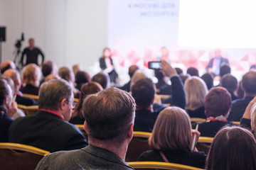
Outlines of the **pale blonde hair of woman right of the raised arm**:
[[199,77],[189,77],[184,84],[186,94],[186,109],[196,110],[203,106],[208,93],[206,83]]

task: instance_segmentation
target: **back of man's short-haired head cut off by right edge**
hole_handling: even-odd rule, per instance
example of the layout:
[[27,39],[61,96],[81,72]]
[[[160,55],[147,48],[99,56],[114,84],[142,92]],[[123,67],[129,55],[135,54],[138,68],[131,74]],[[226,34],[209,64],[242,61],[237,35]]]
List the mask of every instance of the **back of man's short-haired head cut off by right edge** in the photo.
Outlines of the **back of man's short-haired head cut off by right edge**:
[[242,77],[242,87],[245,90],[245,93],[256,95],[256,72],[250,71],[247,72]]

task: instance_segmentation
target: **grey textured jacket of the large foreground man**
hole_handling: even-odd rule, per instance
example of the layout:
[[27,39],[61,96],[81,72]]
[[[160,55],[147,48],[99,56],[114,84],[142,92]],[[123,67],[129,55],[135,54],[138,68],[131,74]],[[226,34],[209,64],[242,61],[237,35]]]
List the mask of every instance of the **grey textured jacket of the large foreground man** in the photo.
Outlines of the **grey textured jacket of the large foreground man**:
[[48,154],[36,169],[124,169],[131,170],[124,160],[113,152],[89,145],[83,149]]

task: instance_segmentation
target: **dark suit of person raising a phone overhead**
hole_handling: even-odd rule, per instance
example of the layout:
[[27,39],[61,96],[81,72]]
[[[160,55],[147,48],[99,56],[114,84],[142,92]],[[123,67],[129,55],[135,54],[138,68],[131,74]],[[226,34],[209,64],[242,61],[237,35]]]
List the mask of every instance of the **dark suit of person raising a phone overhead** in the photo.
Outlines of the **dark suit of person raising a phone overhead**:
[[[171,77],[171,89],[173,91],[171,106],[185,108],[186,96],[181,78],[178,76]],[[134,131],[151,132],[156,122],[157,115],[165,107],[155,107],[155,111],[150,111],[148,108],[137,109],[134,119]]]

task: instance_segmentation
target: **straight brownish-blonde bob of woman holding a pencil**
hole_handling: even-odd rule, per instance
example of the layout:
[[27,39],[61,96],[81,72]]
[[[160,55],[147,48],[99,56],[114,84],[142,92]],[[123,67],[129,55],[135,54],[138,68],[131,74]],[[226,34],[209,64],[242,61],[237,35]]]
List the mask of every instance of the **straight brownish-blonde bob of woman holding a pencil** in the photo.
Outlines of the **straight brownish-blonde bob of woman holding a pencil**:
[[149,137],[151,149],[191,152],[191,122],[188,114],[178,107],[167,107],[156,119]]

